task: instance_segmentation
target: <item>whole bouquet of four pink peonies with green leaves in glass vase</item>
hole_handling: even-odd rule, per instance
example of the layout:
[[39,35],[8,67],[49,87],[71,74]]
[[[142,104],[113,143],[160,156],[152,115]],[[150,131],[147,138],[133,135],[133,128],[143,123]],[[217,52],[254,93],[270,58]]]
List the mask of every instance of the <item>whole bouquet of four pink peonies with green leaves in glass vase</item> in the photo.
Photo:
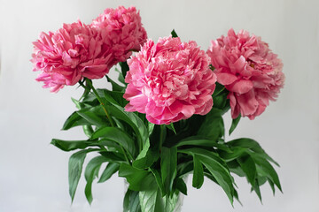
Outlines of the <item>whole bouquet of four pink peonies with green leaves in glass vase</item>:
[[[228,110],[232,133],[241,117],[261,115],[284,86],[283,64],[260,37],[230,29],[206,51],[182,42],[174,30],[154,42],[136,8],[120,6],[90,25],[79,20],[42,33],[34,46],[31,61],[43,87],[83,88],[62,129],[82,126],[88,138],[51,140],[75,151],[68,163],[72,201],[82,172],[89,203],[94,179],[103,183],[116,172],[125,178],[124,211],[178,210],[190,174],[196,188],[205,177],[213,180],[231,204],[238,200],[234,174],[246,178],[260,199],[266,182],[274,193],[281,190],[271,163],[278,164],[257,141],[224,136]],[[118,79],[107,75],[110,70]],[[93,86],[92,79],[104,77],[112,90]]]

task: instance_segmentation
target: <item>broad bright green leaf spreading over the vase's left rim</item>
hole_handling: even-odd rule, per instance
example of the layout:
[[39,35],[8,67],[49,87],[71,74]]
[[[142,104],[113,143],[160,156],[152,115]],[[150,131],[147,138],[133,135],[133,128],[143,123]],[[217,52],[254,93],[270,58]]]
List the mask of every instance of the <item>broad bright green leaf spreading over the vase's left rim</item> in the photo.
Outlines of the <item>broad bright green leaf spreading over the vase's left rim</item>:
[[154,184],[156,185],[151,172],[136,169],[127,163],[121,163],[119,177],[126,178],[129,184],[128,188],[133,191],[145,191]]

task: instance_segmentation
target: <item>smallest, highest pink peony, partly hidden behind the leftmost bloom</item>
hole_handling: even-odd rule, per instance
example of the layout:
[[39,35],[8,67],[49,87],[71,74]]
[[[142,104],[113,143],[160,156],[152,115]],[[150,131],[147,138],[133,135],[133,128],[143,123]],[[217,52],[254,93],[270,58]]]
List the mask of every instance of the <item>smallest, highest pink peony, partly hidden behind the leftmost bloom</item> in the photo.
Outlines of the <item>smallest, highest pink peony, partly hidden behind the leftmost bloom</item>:
[[126,61],[132,55],[132,50],[138,51],[147,39],[135,7],[107,8],[92,21],[91,26],[103,32],[104,42],[112,47],[118,62]]

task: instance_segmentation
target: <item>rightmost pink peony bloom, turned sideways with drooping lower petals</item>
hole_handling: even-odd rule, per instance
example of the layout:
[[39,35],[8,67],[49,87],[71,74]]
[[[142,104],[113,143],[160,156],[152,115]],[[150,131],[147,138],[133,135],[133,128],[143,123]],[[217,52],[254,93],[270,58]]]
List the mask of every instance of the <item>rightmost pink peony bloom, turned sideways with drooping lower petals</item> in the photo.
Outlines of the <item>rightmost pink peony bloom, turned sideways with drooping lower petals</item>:
[[212,41],[207,54],[217,81],[230,91],[232,118],[253,119],[266,109],[269,100],[276,101],[284,87],[283,64],[260,37],[241,30]]

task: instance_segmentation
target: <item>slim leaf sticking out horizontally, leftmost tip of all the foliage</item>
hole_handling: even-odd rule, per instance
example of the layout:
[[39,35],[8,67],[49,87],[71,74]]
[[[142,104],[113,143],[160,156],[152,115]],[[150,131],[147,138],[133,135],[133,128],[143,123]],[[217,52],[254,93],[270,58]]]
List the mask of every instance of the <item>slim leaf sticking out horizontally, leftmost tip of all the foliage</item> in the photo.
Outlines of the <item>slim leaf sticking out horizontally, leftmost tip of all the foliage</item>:
[[92,145],[90,142],[87,140],[58,140],[58,139],[52,139],[51,144],[56,146],[57,148],[63,150],[63,151],[72,151],[74,149],[84,149],[89,146],[96,146]]

